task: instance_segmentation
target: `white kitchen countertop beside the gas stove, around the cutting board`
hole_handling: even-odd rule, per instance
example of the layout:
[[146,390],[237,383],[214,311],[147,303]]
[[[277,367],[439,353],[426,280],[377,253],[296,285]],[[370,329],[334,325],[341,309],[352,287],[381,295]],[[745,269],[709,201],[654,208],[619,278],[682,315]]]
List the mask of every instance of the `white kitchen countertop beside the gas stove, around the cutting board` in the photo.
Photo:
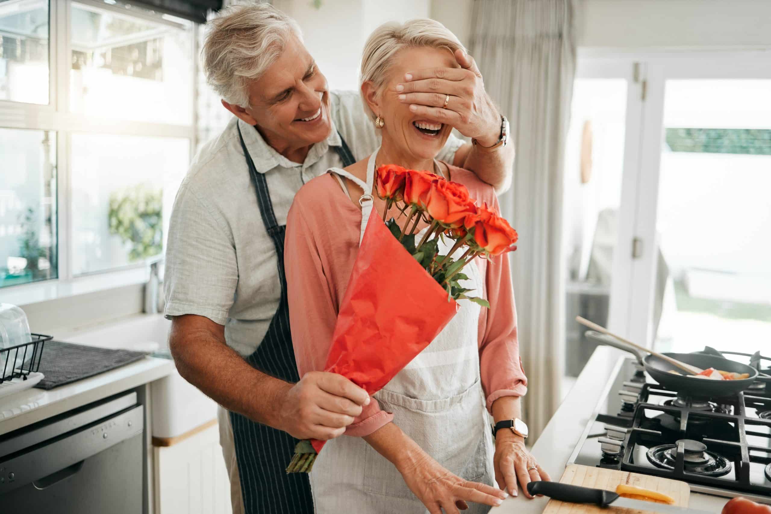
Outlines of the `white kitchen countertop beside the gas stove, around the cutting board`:
[[[604,388],[608,385],[611,371],[619,358],[628,356],[628,353],[615,348],[598,347],[570,393],[550,419],[544,433],[538,438],[531,451],[551,479],[559,480],[562,476],[567,460],[570,459],[584,428],[594,414],[598,401],[604,396]],[[500,507],[495,507],[490,512],[534,514],[543,512],[548,501],[545,497],[527,499],[520,491],[519,496],[506,499]],[[727,498],[691,492],[689,507],[719,514],[727,501]]]

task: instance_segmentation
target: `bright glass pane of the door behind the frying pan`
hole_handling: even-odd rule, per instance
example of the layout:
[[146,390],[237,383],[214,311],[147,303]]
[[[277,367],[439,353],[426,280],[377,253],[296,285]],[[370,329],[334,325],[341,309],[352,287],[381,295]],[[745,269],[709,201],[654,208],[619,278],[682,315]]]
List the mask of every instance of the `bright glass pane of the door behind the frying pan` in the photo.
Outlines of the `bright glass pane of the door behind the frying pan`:
[[771,341],[769,90],[771,80],[665,82],[656,229],[672,294],[660,351],[753,353]]

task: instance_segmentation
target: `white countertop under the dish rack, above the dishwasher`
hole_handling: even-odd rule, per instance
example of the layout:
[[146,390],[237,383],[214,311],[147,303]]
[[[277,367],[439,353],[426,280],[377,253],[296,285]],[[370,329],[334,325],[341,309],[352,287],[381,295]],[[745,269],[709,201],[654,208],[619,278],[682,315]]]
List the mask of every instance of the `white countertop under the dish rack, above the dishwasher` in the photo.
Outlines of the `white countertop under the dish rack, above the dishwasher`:
[[146,357],[50,391],[32,388],[0,398],[0,435],[163,378],[173,370],[168,359]]

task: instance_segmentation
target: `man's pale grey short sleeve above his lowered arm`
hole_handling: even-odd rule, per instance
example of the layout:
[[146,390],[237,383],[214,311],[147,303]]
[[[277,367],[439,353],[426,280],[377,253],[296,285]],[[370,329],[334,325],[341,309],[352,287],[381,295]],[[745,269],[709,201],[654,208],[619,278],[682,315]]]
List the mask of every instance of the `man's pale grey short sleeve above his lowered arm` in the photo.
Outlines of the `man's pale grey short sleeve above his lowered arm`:
[[164,314],[197,314],[224,325],[237,283],[236,252],[227,222],[183,183],[169,223]]

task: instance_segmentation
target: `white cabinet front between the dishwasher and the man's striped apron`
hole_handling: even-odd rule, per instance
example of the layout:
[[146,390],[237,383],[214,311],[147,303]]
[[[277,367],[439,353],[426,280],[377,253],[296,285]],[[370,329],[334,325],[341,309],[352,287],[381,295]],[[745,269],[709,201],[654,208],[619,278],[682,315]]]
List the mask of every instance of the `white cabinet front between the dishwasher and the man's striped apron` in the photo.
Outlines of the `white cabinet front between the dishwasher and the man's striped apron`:
[[153,438],[153,444],[155,514],[231,514],[216,422],[177,438]]

